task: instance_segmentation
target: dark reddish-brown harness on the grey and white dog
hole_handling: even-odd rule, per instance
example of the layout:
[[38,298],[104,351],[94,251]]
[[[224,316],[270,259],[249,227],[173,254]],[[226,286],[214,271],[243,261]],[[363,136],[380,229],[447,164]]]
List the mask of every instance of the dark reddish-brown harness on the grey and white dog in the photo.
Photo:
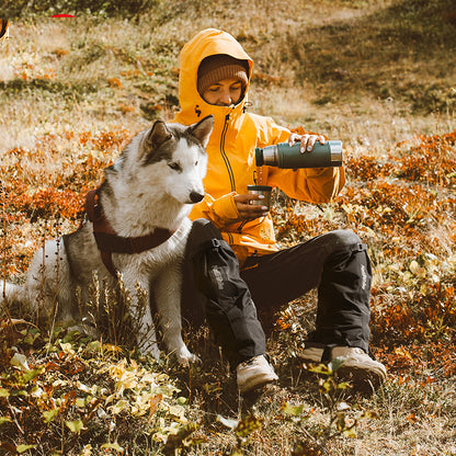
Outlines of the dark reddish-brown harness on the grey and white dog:
[[101,259],[106,270],[117,278],[117,270],[114,266],[113,253],[140,253],[153,249],[166,242],[175,230],[156,228],[153,232],[137,238],[124,238],[117,236],[114,228],[107,221],[99,198],[100,187],[91,190],[86,196],[86,214],[93,224],[93,236],[100,250]]

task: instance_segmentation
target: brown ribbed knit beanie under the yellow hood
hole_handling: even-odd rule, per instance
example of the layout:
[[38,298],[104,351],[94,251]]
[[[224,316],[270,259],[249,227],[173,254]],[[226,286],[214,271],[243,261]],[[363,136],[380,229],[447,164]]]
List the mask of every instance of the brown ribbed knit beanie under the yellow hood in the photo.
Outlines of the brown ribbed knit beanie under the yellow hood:
[[242,82],[243,90],[249,80],[248,75],[249,64],[247,60],[238,60],[226,54],[206,57],[198,68],[198,92],[203,95],[210,86],[230,78],[239,79]]

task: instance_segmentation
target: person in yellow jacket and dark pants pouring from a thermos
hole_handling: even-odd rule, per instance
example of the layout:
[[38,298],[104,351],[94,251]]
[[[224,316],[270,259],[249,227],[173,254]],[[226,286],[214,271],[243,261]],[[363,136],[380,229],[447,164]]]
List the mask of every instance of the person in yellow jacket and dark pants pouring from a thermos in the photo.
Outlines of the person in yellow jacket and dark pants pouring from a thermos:
[[311,153],[324,137],[292,134],[272,118],[250,113],[252,67],[241,45],[215,29],[200,32],[180,55],[174,122],[190,125],[214,116],[206,195],[191,214],[182,312],[195,324],[207,320],[243,394],[277,379],[260,320],[317,287],[316,329],[300,356],[307,362],[340,356],[341,373],[377,385],[386,369],[369,355],[372,271],[366,246],[354,232],[335,230],[277,250],[271,214],[250,204],[260,197],[248,193],[249,184],[276,186],[289,197],[318,204],[335,197],[345,182],[342,167],[256,167],[255,147],[299,141],[300,151]]

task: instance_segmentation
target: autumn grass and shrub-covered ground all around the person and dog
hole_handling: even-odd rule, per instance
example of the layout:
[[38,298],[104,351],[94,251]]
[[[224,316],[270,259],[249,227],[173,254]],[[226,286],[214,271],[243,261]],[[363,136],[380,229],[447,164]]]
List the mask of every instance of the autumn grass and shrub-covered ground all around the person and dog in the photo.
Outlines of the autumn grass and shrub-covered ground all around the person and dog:
[[[55,11],[0,8],[12,19],[0,44],[2,277],[20,282],[45,238],[77,227],[103,168],[176,110],[180,48],[220,27],[254,59],[254,112],[344,142],[343,193],[321,208],[277,194],[277,237],[288,246],[347,227],[368,244],[372,345],[389,378],[368,396],[321,389],[331,376],[296,356],[314,294],[276,316],[269,352],[280,385],[244,399],[205,331],[186,334],[203,364],[185,369],[4,316],[0,454],[456,455],[453,2],[104,3],[102,13],[70,0]],[[158,374],[152,390],[141,369]],[[341,406],[345,429],[329,425],[331,400],[350,406]],[[337,435],[319,447],[329,429]]]

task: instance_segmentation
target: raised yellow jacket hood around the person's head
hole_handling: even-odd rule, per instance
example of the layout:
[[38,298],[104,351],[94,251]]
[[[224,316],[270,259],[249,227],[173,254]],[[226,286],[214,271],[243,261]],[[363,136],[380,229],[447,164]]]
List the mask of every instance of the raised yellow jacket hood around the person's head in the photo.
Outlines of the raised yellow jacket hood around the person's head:
[[[191,124],[201,121],[209,114],[227,113],[232,110],[227,106],[214,106],[203,100],[197,91],[197,72],[203,59],[216,54],[227,54],[249,64],[249,82],[253,61],[242,49],[242,46],[227,32],[207,29],[194,36],[183,48],[180,55],[179,102],[181,111],[176,115],[178,122]],[[242,110],[247,102],[249,82],[241,101],[236,110]]]

